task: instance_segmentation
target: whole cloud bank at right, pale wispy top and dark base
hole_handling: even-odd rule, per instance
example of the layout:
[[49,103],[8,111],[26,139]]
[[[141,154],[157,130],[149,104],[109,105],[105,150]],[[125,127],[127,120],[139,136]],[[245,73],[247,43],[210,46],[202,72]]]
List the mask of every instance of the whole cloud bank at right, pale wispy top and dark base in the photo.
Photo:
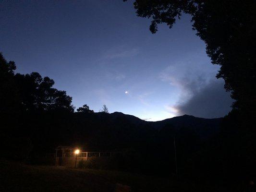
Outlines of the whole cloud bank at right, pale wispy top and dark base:
[[[179,99],[165,106],[174,115],[219,117],[229,112],[232,99],[225,92],[223,80],[217,80],[216,71],[206,63],[180,62],[168,66],[159,73],[159,78],[179,89]],[[221,105],[219,105],[221,103]]]

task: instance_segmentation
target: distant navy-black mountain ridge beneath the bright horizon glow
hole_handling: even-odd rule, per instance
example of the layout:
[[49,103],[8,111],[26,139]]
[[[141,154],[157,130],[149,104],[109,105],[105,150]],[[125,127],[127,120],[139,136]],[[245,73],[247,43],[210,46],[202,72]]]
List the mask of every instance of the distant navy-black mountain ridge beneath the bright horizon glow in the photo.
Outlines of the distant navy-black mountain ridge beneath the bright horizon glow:
[[148,129],[153,128],[158,131],[164,128],[170,128],[174,130],[187,128],[195,132],[199,137],[203,139],[216,135],[219,132],[220,123],[223,119],[205,119],[194,117],[192,115],[183,115],[160,121],[146,121],[141,120],[133,115],[124,114],[122,112],[98,112],[89,115],[96,116],[97,121],[107,120],[113,126],[117,126],[119,122],[122,121],[122,124],[131,126],[134,125],[137,128],[142,128],[146,126]]

